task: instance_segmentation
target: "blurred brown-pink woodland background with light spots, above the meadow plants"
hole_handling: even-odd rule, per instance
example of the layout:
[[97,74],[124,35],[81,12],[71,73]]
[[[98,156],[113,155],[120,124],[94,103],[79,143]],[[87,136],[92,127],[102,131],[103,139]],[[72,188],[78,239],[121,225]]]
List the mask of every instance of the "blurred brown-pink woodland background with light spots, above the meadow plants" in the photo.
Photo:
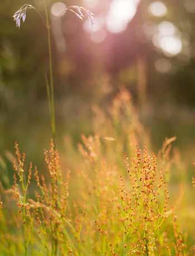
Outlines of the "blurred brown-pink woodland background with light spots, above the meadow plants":
[[[45,72],[45,27],[27,10],[21,29],[13,13],[40,0],[1,2],[0,154],[22,145],[37,163],[51,138]],[[55,18],[66,6],[94,13],[94,26],[73,13]],[[187,159],[195,142],[195,2],[194,0],[50,1],[55,77],[57,140],[70,135],[75,145],[91,134],[94,106],[105,108],[121,87],[132,95],[155,151],[165,137]]]

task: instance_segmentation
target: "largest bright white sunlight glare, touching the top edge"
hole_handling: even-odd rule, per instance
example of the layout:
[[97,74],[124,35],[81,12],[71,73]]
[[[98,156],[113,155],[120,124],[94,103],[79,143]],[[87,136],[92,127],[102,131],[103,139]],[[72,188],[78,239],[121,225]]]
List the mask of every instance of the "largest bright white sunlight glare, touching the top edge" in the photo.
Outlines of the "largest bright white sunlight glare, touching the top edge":
[[107,16],[107,29],[112,33],[125,30],[136,13],[138,3],[139,0],[113,0]]

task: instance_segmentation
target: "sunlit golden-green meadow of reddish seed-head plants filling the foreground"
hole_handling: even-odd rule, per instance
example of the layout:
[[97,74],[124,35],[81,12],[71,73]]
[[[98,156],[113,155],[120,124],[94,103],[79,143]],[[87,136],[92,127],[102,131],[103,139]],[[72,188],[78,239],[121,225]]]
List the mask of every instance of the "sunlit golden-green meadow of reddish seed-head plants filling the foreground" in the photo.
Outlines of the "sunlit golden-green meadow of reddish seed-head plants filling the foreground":
[[185,178],[176,138],[152,153],[125,90],[107,113],[96,111],[77,148],[70,137],[66,153],[48,143],[42,170],[26,163],[22,145],[7,152],[13,184],[1,186],[1,255],[193,255],[194,179]]

